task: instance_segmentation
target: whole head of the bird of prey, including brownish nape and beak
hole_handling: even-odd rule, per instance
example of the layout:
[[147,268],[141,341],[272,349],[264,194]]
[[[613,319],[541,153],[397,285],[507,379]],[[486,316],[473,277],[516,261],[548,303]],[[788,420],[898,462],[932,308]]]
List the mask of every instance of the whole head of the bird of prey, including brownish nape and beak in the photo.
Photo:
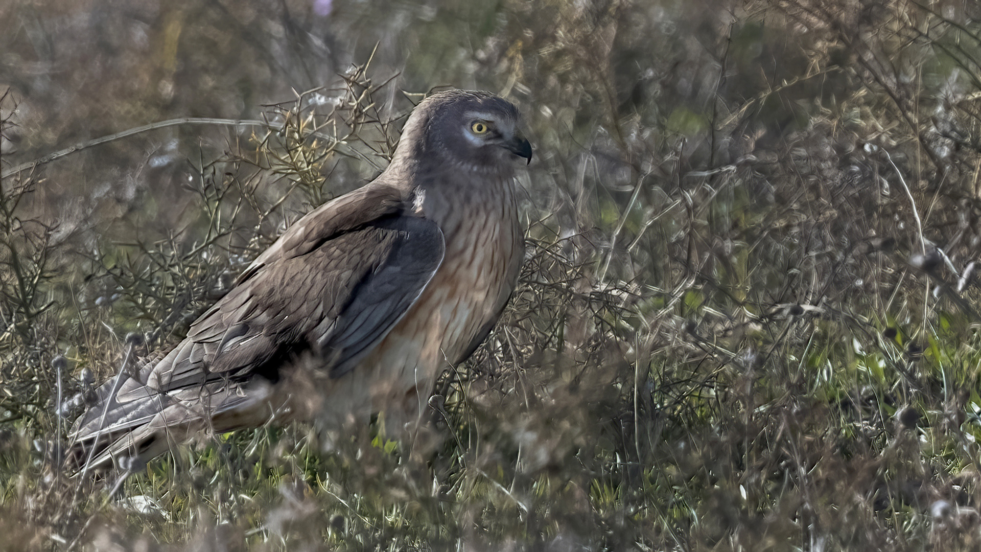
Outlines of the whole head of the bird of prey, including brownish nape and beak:
[[511,174],[517,157],[532,160],[514,104],[469,90],[438,92],[416,106],[395,156],[410,151],[416,159],[485,174]]

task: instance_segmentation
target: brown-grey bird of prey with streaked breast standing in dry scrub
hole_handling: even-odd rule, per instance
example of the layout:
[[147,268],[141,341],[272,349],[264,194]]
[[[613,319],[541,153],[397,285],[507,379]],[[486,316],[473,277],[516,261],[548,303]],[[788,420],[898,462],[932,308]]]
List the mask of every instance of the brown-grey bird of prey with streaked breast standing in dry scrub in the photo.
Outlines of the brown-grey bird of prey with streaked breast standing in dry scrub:
[[420,102],[378,178],[296,221],[173,350],[96,390],[69,463],[133,466],[270,419],[418,418],[515,287],[525,249],[514,161],[532,159],[518,122],[488,92]]

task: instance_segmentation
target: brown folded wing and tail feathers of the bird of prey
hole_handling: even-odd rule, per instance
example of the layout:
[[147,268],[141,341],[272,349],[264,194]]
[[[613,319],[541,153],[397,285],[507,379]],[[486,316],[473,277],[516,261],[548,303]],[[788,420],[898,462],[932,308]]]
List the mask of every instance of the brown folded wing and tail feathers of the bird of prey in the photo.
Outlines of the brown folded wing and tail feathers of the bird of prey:
[[442,262],[439,227],[405,205],[398,191],[369,186],[297,221],[166,357],[99,388],[104,406],[73,432],[77,467],[155,456],[164,431],[180,439],[202,424],[262,423],[279,370],[304,352],[334,377],[353,369]]

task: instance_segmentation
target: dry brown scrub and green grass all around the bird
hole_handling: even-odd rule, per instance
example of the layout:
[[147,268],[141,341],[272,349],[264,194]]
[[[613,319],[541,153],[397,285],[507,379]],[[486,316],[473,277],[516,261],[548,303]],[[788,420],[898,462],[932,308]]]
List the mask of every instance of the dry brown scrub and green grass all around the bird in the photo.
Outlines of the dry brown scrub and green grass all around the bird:
[[[297,424],[67,478],[93,383],[439,86],[536,157],[428,456]],[[2,0],[0,96],[0,549],[981,550],[973,1]]]

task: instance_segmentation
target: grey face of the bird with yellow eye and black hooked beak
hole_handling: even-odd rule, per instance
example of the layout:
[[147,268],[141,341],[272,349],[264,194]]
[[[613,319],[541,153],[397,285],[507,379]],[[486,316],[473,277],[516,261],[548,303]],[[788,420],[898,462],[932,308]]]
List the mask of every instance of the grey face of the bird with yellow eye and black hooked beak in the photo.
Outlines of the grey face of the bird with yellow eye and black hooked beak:
[[434,94],[427,102],[435,107],[429,115],[426,136],[443,162],[473,171],[505,173],[523,157],[530,163],[532,146],[518,129],[514,104],[488,92],[451,90]]

